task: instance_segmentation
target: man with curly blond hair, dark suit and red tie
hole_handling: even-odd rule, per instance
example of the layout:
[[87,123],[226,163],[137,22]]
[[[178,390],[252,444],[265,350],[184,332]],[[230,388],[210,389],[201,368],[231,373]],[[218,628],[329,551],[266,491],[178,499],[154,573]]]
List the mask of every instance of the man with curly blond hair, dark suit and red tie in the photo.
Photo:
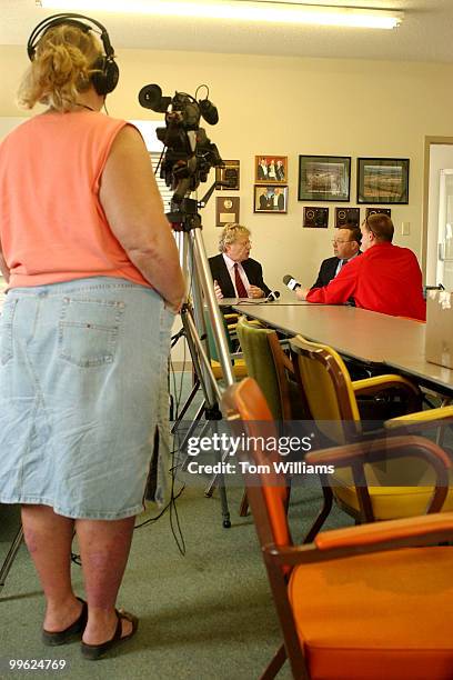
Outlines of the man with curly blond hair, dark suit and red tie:
[[260,262],[249,257],[250,249],[249,229],[226,224],[219,240],[220,254],[209,258],[218,300],[265,298],[271,292],[263,281]]

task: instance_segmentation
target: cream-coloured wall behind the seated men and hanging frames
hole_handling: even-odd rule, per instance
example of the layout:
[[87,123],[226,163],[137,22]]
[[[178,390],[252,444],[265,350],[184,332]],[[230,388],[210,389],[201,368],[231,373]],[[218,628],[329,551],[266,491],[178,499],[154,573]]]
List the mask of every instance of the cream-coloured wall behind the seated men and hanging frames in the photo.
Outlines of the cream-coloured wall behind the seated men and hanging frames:
[[[0,116],[17,116],[14,90],[27,67],[23,48],[0,47]],[[164,94],[210,86],[220,122],[207,126],[207,132],[224,158],[241,161],[241,221],[252,230],[252,254],[262,261],[271,288],[281,289],[285,273],[311,284],[320,261],[331,254],[335,203],[325,203],[331,209],[329,230],[302,229],[299,154],[352,156],[351,206],[356,204],[358,157],[410,158],[410,202],[394,206],[392,217],[396,243],[420,256],[424,137],[452,134],[452,64],[152,50],[120,50],[119,64],[120,84],[108,98],[114,117],[162,121],[138,102],[145,83],[159,83]],[[286,216],[253,214],[258,154],[289,157]],[[403,221],[411,226],[407,237],[401,236]],[[203,224],[207,250],[213,254],[219,233],[214,198],[203,211]]]

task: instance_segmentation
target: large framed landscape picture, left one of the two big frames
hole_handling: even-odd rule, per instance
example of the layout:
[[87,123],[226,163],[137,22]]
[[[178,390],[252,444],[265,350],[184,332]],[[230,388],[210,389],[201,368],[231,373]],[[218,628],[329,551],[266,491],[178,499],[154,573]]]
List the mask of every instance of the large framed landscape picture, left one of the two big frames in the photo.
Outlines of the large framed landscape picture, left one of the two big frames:
[[350,156],[300,156],[300,201],[349,201]]

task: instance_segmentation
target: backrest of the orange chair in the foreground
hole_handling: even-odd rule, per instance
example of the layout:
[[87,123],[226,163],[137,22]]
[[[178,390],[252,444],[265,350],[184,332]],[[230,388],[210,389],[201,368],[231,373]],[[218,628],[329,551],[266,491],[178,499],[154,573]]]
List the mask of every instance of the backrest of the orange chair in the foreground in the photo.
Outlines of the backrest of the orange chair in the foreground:
[[276,439],[278,432],[256,381],[245,378],[229,387],[222,397],[222,411],[233,429],[240,419],[245,436],[256,442],[248,451],[248,461],[256,466],[256,472],[245,474],[245,488],[253,514],[259,517],[255,526],[261,544],[286,546],[292,542],[286,519],[288,483],[274,467],[278,451],[273,447],[264,451],[261,446],[262,438]]

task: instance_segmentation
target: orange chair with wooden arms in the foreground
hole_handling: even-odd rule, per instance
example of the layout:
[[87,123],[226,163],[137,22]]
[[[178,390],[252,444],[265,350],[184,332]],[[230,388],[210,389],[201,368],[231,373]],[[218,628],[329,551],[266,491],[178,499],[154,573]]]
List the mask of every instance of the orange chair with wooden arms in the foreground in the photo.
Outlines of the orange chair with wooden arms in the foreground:
[[[249,437],[262,437],[263,422],[268,436],[276,434],[251,378],[226,390],[222,409]],[[405,451],[434,467],[446,493],[450,460],[421,437],[345,444],[305,461],[346,461],[363,474],[368,457]],[[259,478],[245,474],[245,484],[284,638],[262,678],[274,678],[288,658],[303,680],[452,680],[453,548],[436,543],[452,540],[453,513],[323,531],[294,546],[276,454],[260,448],[249,454],[261,466]]]

